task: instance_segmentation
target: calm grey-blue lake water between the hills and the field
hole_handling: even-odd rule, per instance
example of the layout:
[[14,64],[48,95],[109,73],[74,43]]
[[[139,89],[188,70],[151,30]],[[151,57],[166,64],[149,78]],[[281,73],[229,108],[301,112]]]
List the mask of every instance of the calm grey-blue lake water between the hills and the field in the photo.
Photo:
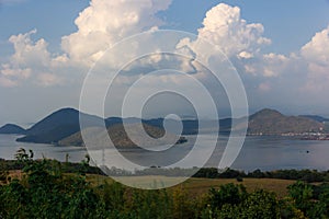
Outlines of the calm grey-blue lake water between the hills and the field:
[[[35,158],[45,157],[65,161],[66,154],[69,154],[69,161],[71,162],[80,162],[88,153],[86,149],[78,147],[16,142],[15,139],[18,137],[14,135],[0,135],[0,158],[13,159],[19,148],[32,149]],[[200,149],[198,155],[197,153],[194,155],[193,161],[195,162],[191,162],[190,168],[194,166],[198,159],[203,159],[209,138],[209,135],[202,136],[201,142],[203,148]],[[162,166],[167,162],[174,162],[189,153],[192,149],[191,142],[194,141],[195,136],[189,136],[188,139],[188,143],[175,147],[166,153],[140,152],[140,150],[126,149],[123,150],[122,154],[145,166]],[[222,146],[225,146],[226,141],[227,137],[222,136],[219,138],[218,146],[206,163],[206,166],[218,165],[223,154]],[[105,154],[110,160],[113,159],[113,151],[111,149],[106,150]],[[93,155],[97,155],[97,153]],[[100,157],[101,154],[98,155]],[[329,170],[329,141],[298,140],[292,137],[247,137],[242,150],[231,168],[245,171],[256,169],[263,171],[279,169]]]

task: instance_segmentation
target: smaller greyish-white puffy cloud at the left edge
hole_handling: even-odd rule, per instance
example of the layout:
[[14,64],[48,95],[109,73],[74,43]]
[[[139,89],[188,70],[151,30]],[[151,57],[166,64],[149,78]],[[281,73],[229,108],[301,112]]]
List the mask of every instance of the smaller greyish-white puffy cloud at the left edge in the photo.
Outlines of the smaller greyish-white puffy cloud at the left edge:
[[[0,67],[0,78],[2,87],[15,87],[22,81],[30,80],[32,77],[41,79],[42,85],[57,84],[59,81],[53,76],[52,80],[45,71],[56,71],[58,62],[63,62],[63,57],[54,57],[48,51],[48,44],[44,38],[33,41],[31,36],[36,30],[25,34],[12,35],[9,42],[13,45],[14,54],[10,57],[9,62],[2,64]],[[33,80],[33,79],[31,79]]]

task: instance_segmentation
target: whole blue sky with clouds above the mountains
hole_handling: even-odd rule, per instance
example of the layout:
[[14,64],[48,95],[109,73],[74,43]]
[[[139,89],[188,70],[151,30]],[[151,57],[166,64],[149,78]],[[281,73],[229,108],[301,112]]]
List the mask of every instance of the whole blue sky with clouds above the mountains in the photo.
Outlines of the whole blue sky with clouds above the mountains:
[[[241,78],[250,113],[271,107],[288,115],[329,116],[327,0],[0,0],[0,125],[34,123],[61,107],[78,108],[82,82],[106,49],[127,37],[155,30],[195,35],[186,41],[164,42],[178,53],[185,49],[183,53],[191,59],[149,56],[126,67],[127,76],[117,80],[115,95],[112,99],[110,95],[106,105],[116,111],[110,110],[106,116],[117,113],[116,97],[146,76],[144,71],[155,69],[154,66],[177,68],[202,81],[215,104],[223,104],[219,116],[227,116],[227,100],[216,94],[218,84],[212,84],[206,70],[193,62],[200,59],[209,65],[212,58],[219,60],[223,54]],[[124,56],[145,53],[146,45],[158,51],[163,46],[158,45],[158,39],[152,36],[147,43],[137,42],[136,47],[122,47],[110,56],[111,61],[104,68],[112,72]],[[202,41],[216,45],[220,53],[197,46]],[[198,89],[189,87],[192,82],[188,84],[185,78],[174,72],[145,80],[140,93],[168,83],[183,88],[191,96],[201,95]],[[90,93],[97,96],[94,88]],[[179,104],[182,101],[175,104],[171,101],[174,102],[162,96],[145,116],[166,114],[171,106],[177,106],[173,112],[184,116],[193,114],[191,108]],[[207,103],[202,97],[197,101],[205,106],[202,114],[209,116]],[[134,111],[129,113],[133,115]]]

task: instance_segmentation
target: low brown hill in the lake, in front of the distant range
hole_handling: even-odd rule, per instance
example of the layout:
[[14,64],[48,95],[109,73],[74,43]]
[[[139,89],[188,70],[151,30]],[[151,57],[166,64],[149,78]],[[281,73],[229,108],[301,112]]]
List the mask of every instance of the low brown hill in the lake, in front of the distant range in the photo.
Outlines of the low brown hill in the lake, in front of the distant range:
[[[93,147],[97,146],[104,147],[106,146],[107,142],[106,138],[107,136],[110,136],[111,141],[114,143],[115,147],[129,148],[129,147],[136,147],[136,143],[145,147],[168,145],[168,143],[172,143],[172,141],[178,138],[174,135],[169,135],[167,139],[158,140],[164,135],[164,129],[150,126],[147,124],[143,124],[143,128],[149,135],[149,137],[151,137],[150,139],[143,138],[143,135],[140,135],[137,124],[125,124],[125,127],[123,126],[123,124],[115,124],[110,126],[106,132],[97,128],[90,128],[90,130],[88,129],[83,130],[83,135],[84,135],[83,137],[89,136],[87,137],[87,139],[83,140],[89,141],[90,143],[92,143]],[[133,137],[134,142],[127,136],[126,130],[129,131],[129,134],[132,134],[129,135],[129,137],[131,136]],[[184,137],[180,137],[178,139],[179,140],[177,141],[177,143],[182,143],[186,141]],[[61,146],[81,147],[84,145],[83,140],[81,137],[81,131],[79,131],[60,140],[58,143]]]

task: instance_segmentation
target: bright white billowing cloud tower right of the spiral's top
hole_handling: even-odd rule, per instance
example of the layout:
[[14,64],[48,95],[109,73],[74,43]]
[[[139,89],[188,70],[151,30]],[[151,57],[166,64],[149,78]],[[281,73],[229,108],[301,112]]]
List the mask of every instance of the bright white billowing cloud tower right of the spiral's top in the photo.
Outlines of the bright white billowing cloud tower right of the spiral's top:
[[206,13],[203,25],[198,36],[218,45],[228,57],[252,57],[261,46],[271,44],[271,39],[263,36],[263,25],[247,23],[238,7],[219,3]]

